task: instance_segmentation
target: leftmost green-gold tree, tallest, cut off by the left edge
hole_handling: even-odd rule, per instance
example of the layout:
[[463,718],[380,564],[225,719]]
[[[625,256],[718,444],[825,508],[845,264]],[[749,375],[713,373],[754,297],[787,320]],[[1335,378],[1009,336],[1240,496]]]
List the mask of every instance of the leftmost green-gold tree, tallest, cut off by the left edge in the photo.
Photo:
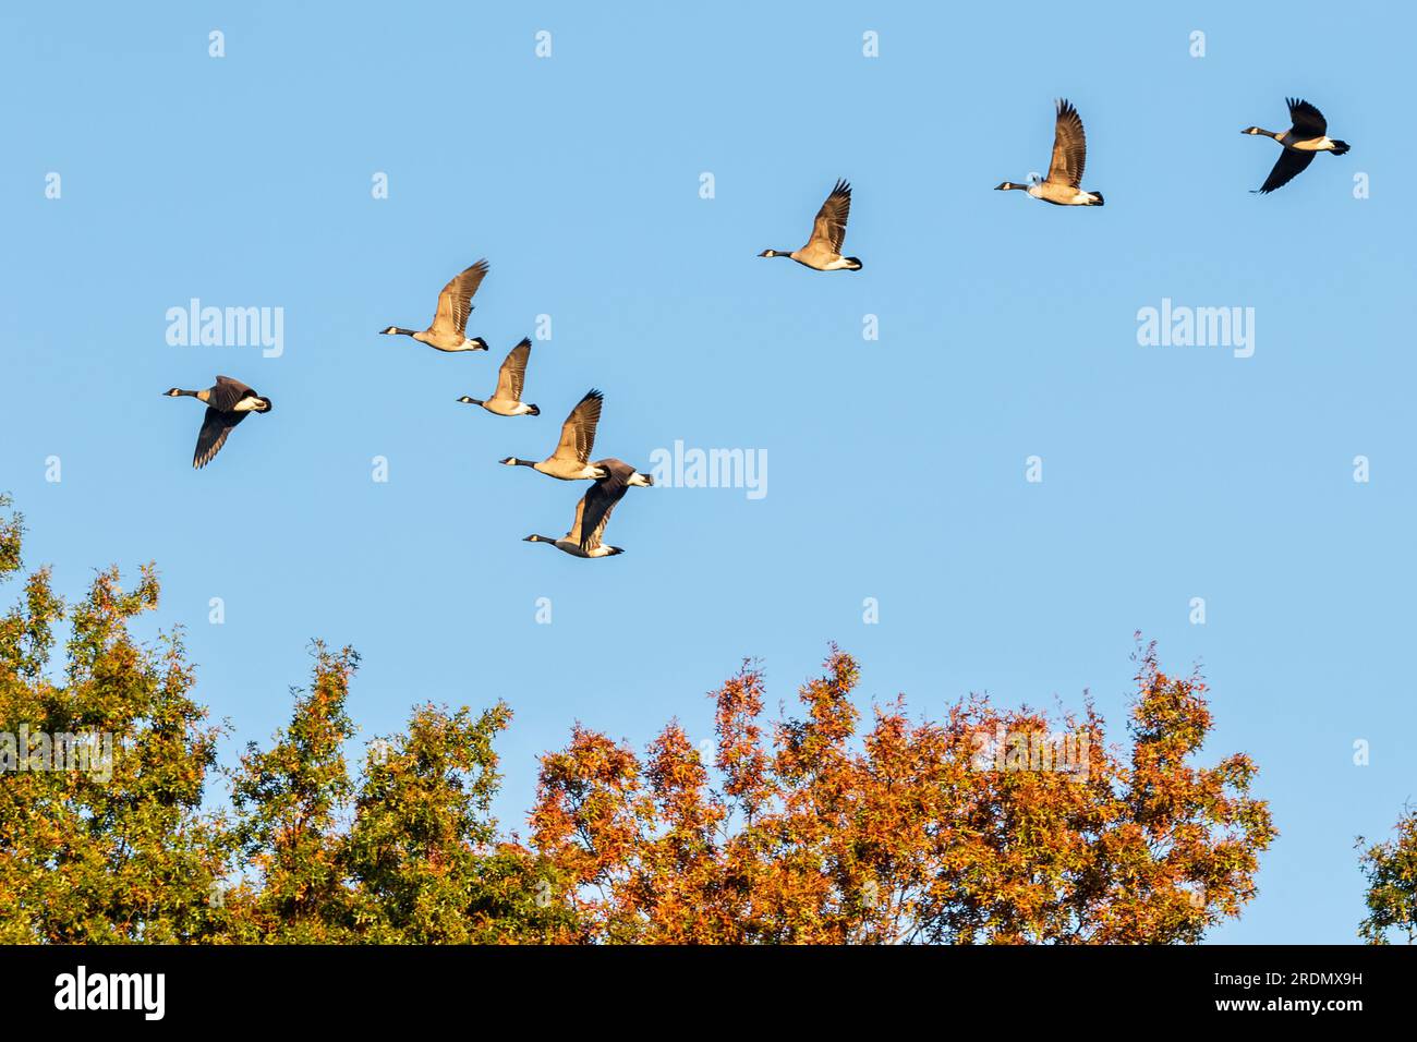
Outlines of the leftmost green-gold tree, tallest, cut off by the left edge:
[[[0,577],[21,567],[21,530],[17,516],[0,523]],[[207,897],[230,845],[200,804],[220,730],[188,696],[180,639],[129,638],[128,621],[156,605],[152,567],[132,591],[99,573],[72,610],[41,568],[0,624],[0,941],[171,943],[213,929]],[[57,685],[44,668],[65,615]]]

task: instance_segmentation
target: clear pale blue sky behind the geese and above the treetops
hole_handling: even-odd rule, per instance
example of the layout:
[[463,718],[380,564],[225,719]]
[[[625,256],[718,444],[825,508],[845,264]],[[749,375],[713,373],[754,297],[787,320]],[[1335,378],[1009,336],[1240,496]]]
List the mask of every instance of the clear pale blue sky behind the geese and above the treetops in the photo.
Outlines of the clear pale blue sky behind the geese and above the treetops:
[[[499,812],[519,828],[534,757],[572,720],[710,737],[704,692],[744,656],[789,703],[830,639],[863,663],[863,707],[1088,689],[1121,734],[1141,629],[1169,669],[1203,665],[1206,761],[1250,753],[1282,832],[1212,940],[1352,941],[1353,838],[1417,795],[1411,149],[1391,89],[1417,27],[1399,4],[1090,10],[7,6],[0,489],[27,561],[79,595],[94,567],[156,560],[146,631],[186,627],[230,757],[288,719],[312,637],[364,656],[366,737],[415,702],[506,699]],[[1250,194],[1278,146],[1238,130],[1282,130],[1287,95],[1352,152]],[[1057,96],[1102,208],[990,191],[1046,167]],[[801,245],[837,177],[864,269],[757,259]],[[469,333],[490,357],[376,335],[427,325],[479,257]],[[191,298],[282,308],[283,354],[170,346]],[[1253,357],[1139,346],[1163,298],[1254,308]],[[538,315],[543,415],[455,404]],[[194,472],[201,410],[159,394],[215,373],[275,408]],[[584,488],[496,461],[546,455],[591,386],[597,456],[761,449],[767,495],[632,491],[612,560],[521,543],[563,533]]]

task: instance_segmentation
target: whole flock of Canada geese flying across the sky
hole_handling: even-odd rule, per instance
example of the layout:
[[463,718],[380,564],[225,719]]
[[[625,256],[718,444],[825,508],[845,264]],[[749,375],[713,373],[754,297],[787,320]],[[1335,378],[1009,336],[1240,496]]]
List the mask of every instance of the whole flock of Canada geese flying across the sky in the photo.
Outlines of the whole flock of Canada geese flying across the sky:
[[[1281,153],[1274,169],[1255,191],[1268,194],[1288,184],[1302,173],[1319,152],[1342,156],[1349,150],[1346,142],[1328,136],[1328,121],[1314,105],[1289,98],[1289,129],[1284,133],[1248,126],[1241,133],[1263,135],[1280,143]],[[1049,160],[1047,177],[1033,176],[1027,184],[1003,181],[996,191],[1017,189],[1033,198],[1054,206],[1102,206],[1102,193],[1083,189],[1083,170],[1087,164],[1087,135],[1083,118],[1066,98],[1057,102],[1053,126],[1053,156]],[[852,186],[839,180],[822,203],[812,224],[812,235],[799,250],[764,250],[758,257],[786,257],[815,271],[860,271],[857,257],[843,257],[846,221],[852,213]],[[485,352],[487,342],[480,336],[469,337],[468,316],[472,313],[472,298],[489,271],[487,262],[478,261],[470,268],[453,275],[438,293],[438,310],[428,329],[404,329],[388,326],[380,333],[385,336],[408,336],[439,352]],[[497,386],[490,398],[458,398],[466,405],[480,405],[487,413],[500,417],[541,415],[541,410],[521,400],[526,384],[527,363],[531,360],[531,340],[523,339],[513,347],[497,371]],[[164,391],[167,397],[191,397],[207,405],[201,431],[197,434],[197,449],[191,465],[203,468],[213,461],[227,435],[247,418],[249,413],[269,413],[271,398],[256,394],[239,380],[218,376],[217,383],[203,391],[186,391],[173,387]],[[632,486],[653,485],[653,479],[640,474],[622,459],[606,458],[591,462],[595,445],[595,425],[601,418],[604,397],[595,388],[575,403],[565,422],[561,424],[561,438],[546,459],[531,461],[507,456],[507,466],[530,466],[533,471],[558,481],[589,481],[591,488],[575,505],[571,530],[561,539],[530,534],[529,543],[550,543],[574,557],[611,557],[623,553],[622,547],[604,542],[605,526],[611,512],[625,498]]]

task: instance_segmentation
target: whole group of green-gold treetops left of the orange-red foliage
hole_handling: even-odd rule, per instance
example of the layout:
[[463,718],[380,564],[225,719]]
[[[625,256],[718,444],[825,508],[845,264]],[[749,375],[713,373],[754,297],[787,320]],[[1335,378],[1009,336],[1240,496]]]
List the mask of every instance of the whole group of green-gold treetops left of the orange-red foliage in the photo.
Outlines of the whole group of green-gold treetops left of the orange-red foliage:
[[[7,508],[0,498],[0,581],[23,567],[23,519]],[[289,724],[232,771],[234,814],[204,811],[224,730],[190,698],[180,635],[154,649],[129,635],[157,598],[152,566],[133,590],[101,573],[72,607],[41,568],[0,620],[13,746],[0,740],[0,943],[514,943],[565,929],[550,862],[499,841],[487,812],[512,712],[421,706],[351,780],[350,648],[313,645]],[[55,761],[69,734],[108,736],[111,761]],[[35,761],[40,736],[51,751]]]

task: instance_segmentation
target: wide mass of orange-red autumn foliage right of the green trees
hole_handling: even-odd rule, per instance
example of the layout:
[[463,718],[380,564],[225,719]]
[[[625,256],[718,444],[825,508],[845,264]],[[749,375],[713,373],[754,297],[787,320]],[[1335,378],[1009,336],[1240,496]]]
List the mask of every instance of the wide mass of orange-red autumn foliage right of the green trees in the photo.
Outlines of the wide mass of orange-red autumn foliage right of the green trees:
[[713,693],[711,766],[673,722],[643,758],[577,724],[531,814],[570,880],[560,940],[1196,941],[1254,896],[1275,831],[1248,757],[1193,763],[1200,679],[1153,648],[1138,663],[1127,760],[1091,706],[1050,724],[971,696],[911,722],[897,699],[857,736],[857,665],[835,646],[801,719],[762,720],[750,663]]

